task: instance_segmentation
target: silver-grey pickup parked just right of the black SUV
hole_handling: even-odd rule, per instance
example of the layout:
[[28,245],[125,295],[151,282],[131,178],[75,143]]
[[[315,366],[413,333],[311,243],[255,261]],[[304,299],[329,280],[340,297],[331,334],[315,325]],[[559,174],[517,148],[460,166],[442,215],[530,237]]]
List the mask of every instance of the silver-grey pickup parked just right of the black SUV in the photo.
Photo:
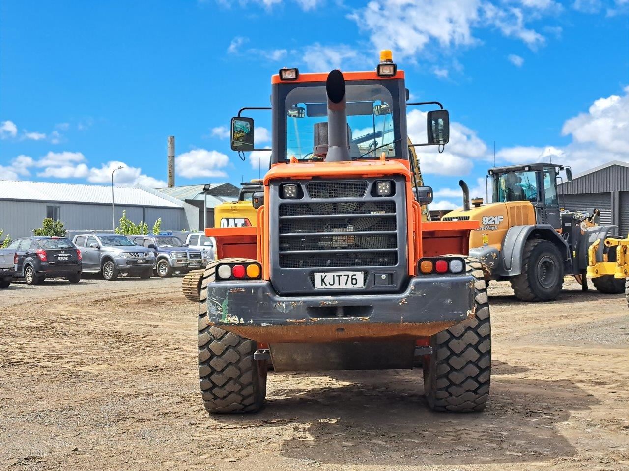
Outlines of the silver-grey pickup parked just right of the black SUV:
[[136,246],[119,234],[81,234],[74,244],[83,254],[84,273],[101,273],[113,280],[119,274],[151,278],[155,256],[153,251]]

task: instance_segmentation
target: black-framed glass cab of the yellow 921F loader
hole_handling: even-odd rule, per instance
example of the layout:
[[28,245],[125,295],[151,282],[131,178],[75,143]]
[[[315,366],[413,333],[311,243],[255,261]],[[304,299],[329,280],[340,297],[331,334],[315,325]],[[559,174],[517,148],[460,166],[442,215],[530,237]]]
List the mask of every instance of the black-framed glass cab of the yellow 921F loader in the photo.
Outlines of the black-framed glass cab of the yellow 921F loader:
[[[491,168],[492,193],[495,202],[528,201],[535,208],[537,224],[550,224],[560,229],[561,218],[557,178],[563,166],[549,163],[533,163]],[[572,180],[569,167],[565,168],[568,180]]]

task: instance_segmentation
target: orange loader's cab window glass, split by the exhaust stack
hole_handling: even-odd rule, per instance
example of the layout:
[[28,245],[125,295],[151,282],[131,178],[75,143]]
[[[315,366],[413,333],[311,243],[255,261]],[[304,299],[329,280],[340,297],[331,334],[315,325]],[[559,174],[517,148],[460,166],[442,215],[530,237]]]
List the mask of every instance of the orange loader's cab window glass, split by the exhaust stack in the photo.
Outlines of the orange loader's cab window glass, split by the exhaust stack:
[[[347,85],[347,133],[350,158],[366,160],[396,156],[399,129],[391,92],[380,84]],[[328,108],[325,86],[297,87],[286,95],[286,156],[300,161],[325,158]]]

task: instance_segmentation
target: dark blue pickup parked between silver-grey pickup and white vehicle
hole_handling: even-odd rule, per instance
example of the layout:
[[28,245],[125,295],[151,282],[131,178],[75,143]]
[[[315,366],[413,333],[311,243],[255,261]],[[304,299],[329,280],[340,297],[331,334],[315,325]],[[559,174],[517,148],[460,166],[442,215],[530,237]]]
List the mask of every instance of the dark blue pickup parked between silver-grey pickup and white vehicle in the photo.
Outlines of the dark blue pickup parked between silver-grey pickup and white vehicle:
[[138,246],[155,252],[155,274],[161,278],[172,276],[175,271],[188,273],[201,268],[208,259],[201,251],[191,250],[175,236],[129,236]]

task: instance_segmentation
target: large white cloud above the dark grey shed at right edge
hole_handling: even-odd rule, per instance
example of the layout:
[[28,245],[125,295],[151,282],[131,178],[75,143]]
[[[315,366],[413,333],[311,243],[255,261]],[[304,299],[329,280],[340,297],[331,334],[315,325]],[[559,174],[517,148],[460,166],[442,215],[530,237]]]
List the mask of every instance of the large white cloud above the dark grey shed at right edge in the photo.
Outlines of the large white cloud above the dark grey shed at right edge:
[[[496,156],[509,163],[548,161],[570,165],[574,173],[612,160],[629,162],[629,87],[623,95],[594,100],[587,112],[567,119],[562,135],[571,136],[565,146],[514,146]],[[550,154],[550,156],[549,156]]]

